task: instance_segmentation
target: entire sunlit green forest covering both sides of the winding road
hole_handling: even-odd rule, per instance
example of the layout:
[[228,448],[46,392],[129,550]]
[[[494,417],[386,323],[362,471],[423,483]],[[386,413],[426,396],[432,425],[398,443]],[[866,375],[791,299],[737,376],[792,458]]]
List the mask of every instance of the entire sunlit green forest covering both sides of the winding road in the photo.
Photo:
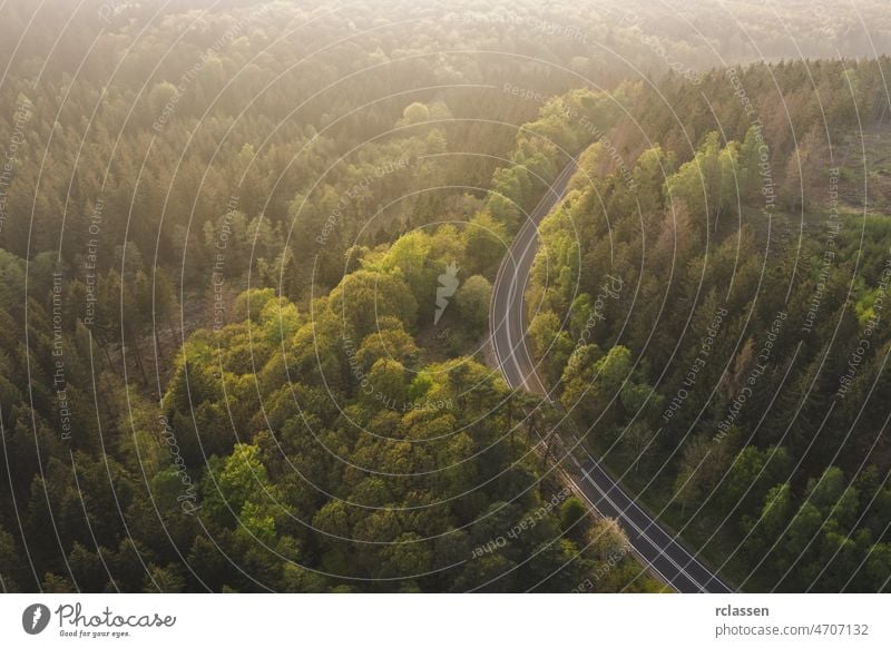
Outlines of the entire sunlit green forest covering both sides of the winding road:
[[[664,590],[593,453],[742,589],[887,590],[891,16],[774,4],[6,2],[0,588]],[[552,406],[489,316],[570,163]]]

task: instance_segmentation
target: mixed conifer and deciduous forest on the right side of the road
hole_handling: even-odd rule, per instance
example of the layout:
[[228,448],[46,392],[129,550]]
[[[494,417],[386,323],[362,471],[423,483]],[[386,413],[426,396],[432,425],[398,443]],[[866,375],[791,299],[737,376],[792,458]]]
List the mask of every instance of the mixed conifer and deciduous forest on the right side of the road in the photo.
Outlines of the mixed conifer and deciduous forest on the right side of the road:
[[674,127],[645,91],[660,138],[616,129],[629,169],[595,143],[541,226],[527,307],[552,393],[756,591],[891,579],[890,62],[711,72],[707,108],[678,79],[665,105],[695,117]]

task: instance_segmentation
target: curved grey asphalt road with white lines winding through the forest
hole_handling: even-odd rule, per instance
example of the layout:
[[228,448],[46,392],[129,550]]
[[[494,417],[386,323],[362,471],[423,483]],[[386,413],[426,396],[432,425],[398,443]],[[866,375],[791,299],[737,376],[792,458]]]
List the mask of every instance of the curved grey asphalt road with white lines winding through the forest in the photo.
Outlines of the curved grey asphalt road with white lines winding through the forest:
[[[538,248],[538,224],[566,195],[566,187],[575,168],[572,163],[557,176],[517,234],[513,245],[498,268],[489,312],[495,360],[508,385],[512,389],[526,389],[547,399],[549,395],[536,373],[535,362],[526,345],[523,294]],[[574,482],[576,490],[599,514],[615,518],[619,522],[628,534],[634,552],[662,580],[681,592],[733,591],[697,560],[682,544],[679,538],[659,527],[590,454],[584,462],[571,454],[568,459],[575,463],[576,470],[566,472],[566,475]]]

